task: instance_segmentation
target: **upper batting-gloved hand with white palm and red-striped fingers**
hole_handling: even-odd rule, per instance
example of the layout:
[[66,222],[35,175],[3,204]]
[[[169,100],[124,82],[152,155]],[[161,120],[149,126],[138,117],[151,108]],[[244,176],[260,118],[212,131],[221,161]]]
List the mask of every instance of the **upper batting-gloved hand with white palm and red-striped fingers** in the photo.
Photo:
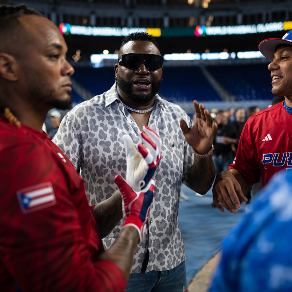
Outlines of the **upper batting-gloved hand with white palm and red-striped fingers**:
[[141,137],[147,148],[140,143],[138,151],[131,137],[123,136],[127,159],[126,181],[136,192],[147,187],[161,159],[162,141],[157,126],[143,126],[143,130]]

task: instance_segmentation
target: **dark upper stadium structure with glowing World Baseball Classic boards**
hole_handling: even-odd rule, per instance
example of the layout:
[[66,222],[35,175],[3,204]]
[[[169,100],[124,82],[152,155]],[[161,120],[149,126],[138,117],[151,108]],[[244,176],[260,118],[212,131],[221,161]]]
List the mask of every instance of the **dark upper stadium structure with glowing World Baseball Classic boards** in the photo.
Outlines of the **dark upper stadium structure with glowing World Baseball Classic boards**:
[[292,29],[292,0],[28,0],[25,3],[63,26],[68,56],[73,58],[78,52],[80,61],[88,61],[91,54],[104,50],[110,54],[117,52],[123,34],[131,28],[155,35],[162,55],[257,51],[263,39],[281,38],[283,31]]

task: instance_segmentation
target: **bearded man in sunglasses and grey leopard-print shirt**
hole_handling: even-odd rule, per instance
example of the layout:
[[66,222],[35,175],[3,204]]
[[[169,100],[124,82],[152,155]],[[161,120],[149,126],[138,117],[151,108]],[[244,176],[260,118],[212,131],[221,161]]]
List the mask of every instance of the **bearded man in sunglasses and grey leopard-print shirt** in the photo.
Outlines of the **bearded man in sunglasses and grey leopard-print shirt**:
[[[135,145],[144,125],[158,125],[161,161],[145,237],[136,249],[126,291],[187,291],[184,243],[178,224],[181,184],[205,194],[215,177],[212,161],[217,125],[194,101],[195,122],[181,107],[162,99],[162,57],[153,36],[144,32],[122,41],[115,84],[75,106],[62,120],[55,142],[85,182],[90,204],[114,192],[114,173],[126,172],[122,135]],[[100,179],[104,178],[104,179]],[[109,248],[122,221],[103,240]]]

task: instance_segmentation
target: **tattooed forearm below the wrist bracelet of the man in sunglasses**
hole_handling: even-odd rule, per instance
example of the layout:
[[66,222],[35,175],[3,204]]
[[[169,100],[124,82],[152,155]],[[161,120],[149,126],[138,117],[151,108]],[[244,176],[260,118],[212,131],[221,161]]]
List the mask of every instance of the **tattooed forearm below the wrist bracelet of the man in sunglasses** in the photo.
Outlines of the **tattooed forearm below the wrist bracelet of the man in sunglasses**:
[[189,187],[204,195],[211,187],[215,178],[215,166],[212,156],[205,159],[196,158],[188,173]]

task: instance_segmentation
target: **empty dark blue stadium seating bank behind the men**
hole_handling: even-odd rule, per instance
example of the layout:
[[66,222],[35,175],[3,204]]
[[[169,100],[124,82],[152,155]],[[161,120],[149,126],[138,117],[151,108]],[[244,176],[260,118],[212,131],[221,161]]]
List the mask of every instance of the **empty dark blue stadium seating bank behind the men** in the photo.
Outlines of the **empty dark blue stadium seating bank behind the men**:
[[[206,69],[236,97],[237,101],[272,100],[271,78],[267,65],[215,65]],[[115,82],[114,68],[76,67],[72,77],[91,95],[107,91]],[[159,94],[171,102],[220,102],[221,97],[210,85],[199,66],[164,66],[163,82]],[[82,101],[73,91],[75,103]]]

